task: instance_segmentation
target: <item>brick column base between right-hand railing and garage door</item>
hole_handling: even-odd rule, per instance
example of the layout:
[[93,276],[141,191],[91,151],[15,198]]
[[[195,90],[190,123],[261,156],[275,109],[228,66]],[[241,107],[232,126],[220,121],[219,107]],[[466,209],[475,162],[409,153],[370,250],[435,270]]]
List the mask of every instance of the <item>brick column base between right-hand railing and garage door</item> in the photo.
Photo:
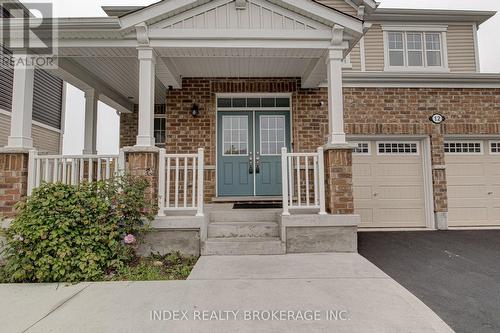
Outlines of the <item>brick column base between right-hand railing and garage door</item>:
[[328,144],[325,149],[325,197],[329,214],[354,214],[353,144]]

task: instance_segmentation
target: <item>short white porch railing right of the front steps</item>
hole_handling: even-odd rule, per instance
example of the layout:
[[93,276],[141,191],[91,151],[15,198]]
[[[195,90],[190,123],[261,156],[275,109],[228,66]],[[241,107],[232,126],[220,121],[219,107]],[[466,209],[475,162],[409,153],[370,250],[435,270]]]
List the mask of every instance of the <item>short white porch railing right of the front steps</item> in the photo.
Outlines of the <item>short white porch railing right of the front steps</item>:
[[288,153],[281,150],[283,215],[290,209],[325,210],[325,166],[323,148],[316,153]]

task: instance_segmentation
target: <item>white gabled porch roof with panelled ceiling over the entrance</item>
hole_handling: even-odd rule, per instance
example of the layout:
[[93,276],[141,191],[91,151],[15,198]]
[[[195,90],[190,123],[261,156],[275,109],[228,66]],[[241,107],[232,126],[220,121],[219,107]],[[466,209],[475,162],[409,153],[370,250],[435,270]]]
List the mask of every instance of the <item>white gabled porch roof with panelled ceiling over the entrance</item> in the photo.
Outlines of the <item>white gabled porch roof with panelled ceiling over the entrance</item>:
[[168,0],[128,7],[120,17],[55,19],[54,74],[95,88],[122,111],[139,102],[140,47],[158,56],[157,103],[182,77],[301,77],[304,87],[317,87],[326,81],[326,51],[347,55],[367,30],[359,18],[314,1],[239,2]]

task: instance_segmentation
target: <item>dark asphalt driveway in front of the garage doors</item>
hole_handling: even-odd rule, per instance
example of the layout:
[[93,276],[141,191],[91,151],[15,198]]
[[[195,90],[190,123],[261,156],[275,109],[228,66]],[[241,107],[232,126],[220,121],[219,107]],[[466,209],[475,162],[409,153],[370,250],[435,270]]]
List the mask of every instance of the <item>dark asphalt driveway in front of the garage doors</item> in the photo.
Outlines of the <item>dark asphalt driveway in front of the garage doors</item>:
[[456,332],[500,332],[500,230],[360,232],[359,252]]

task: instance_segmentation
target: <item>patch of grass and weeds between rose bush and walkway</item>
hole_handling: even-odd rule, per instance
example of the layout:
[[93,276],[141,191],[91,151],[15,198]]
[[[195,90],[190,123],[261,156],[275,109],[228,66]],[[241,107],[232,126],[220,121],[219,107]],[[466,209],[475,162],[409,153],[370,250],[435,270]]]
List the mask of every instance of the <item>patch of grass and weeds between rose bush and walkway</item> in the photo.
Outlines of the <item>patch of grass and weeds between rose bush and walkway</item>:
[[198,261],[197,257],[186,257],[180,253],[152,255],[138,258],[116,274],[108,276],[107,281],[164,281],[185,280]]

